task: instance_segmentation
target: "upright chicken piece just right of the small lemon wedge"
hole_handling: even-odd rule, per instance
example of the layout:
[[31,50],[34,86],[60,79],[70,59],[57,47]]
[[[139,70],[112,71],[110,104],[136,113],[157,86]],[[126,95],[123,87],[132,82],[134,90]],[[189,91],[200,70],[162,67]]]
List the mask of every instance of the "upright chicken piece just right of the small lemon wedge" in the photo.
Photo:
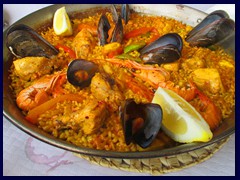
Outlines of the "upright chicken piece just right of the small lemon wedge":
[[93,34],[87,30],[82,29],[73,39],[72,47],[75,50],[77,58],[87,59],[88,54],[91,54],[95,45]]

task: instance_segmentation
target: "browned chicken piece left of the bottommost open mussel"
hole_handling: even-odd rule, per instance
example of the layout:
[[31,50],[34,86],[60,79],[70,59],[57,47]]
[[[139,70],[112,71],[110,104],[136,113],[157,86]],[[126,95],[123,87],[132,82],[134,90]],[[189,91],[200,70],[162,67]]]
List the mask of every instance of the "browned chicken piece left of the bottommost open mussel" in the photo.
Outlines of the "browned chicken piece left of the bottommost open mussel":
[[73,129],[77,125],[85,134],[95,133],[108,117],[106,106],[105,102],[89,100],[83,109],[72,114]]

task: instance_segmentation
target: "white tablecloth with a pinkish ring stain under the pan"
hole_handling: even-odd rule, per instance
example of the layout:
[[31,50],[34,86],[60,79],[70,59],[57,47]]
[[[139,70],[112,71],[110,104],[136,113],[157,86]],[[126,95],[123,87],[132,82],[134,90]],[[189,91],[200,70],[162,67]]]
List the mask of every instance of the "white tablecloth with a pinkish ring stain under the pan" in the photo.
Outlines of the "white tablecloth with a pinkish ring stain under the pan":
[[[9,24],[50,4],[4,4],[4,18]],[[235,19],[234,5],[188,4],[205,12],[224,9]],[[150,176],[94,165],[46,143],[23,131],[3,117],[3,175],[4,176]],[[234,176],[235,134],[210,159],[181,171],[163,176]]]

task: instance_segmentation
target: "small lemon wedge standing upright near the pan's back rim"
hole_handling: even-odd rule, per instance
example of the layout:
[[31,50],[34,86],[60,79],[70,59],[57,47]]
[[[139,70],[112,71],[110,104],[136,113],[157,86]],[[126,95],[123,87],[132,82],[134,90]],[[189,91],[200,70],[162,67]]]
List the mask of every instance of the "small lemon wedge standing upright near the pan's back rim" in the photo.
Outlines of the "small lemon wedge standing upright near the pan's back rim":
[[73,34],[72,25],[65,7],[59,8],[53,17],[53,29],[57,35],[70,36]]

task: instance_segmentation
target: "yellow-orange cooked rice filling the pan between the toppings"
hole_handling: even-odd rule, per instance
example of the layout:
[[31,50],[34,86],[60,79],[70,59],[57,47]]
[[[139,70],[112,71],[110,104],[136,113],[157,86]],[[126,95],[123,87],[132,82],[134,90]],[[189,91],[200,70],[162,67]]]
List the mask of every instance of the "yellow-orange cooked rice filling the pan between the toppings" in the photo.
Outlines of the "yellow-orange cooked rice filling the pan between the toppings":
[[[107,13],[107,17],[112,19],[111,14]],[[77,34],[77,25],[80,23],[88,23],[90,25],[97,26],[98,20],[100,18],[100,14],[96,14],[90,16],[85,19],[73,19],[73,30],[74,36]],[[111,25],[113,22],[111,21]],[[140,15],[137,13],[131,14],[130,21],[127,25],[124,25],[124,33],[130,32],[133,29],[137,29],[140,27],[155,27],[160,35],[164,35],[167,33],[175,32],[178,33],[183,39],[186,37],[187,33],[192,29],[192,27],[183,24],[177,20],[166,18],[166,17],[156,17],[156,16],[146,16]],[[70,37],[61,37],[57,36],[53,28],[50,27],[46,32],[42,32],[42,36],[48,40],[51,44],[65,44],[66,46],[72,47],[72,41],[74,36]],[[139,36],[134,38],[132,42],[136,41],[148,41],[151,39],[151,34],[149,36]],[[96,42],[98,41],[97,37],[95,37]],[[124,41],[123,46],[129,42]],[[88,59],[90,61],[95,61],[96,59],[104,59],[106,56],[102,53],[102,47],[97,45],[93,49],[92,54],[88,55]],[[219,92],[216,94],[211,94],[209,91],[204,91],[204,93],[209,96],[214,103],[221,109],[223,118],[228,117],[232,108],[235,105],[235,68],[226,68],[221,67],[219,65],[220,61],[226,61],[235,67],[235,62],[233,58],[226,54],[223,50],[210,50],[208,48],[199,48],[199,47],[190,47],[187,42],[184,41],[182,57],[179,59],[179,70],[170,72],[171,78],[176,85],[180,87],[184,87],[187,84],[187,79],[190,76],[190,73],[193,69],[188,67],[183,67],[184,62],[188,59],[201,59],[207,65],[207,67],[216,68],[222,79],[222,83],[225,92]],[[66,66],[69,62],[71,62],[71,58],[69,54],[60,49],[60,53],[55,59],[55,71],[61,70],[65,68],[63,71],[66,71]],[[108,64],[107,62],[105,64]],[[119,73],[124,71],[124,69],[119,69],[118,67],[111,67],[113,71]],[[12,80],[11,88],[15,96],[18,93],[31,85],[31,81],[25,81],[20,79],[15,71],[14,67],[11,68],[10,78]],[[145,82],[142,81],[144,84]],[[63,85],[64,89],[67,93],[78,93],[79,96],[82,96],[85,100],[83,102],[77,101],[64,101],[58,103],[55,108],[49,109],[45,113],[43,113],[38,119],[38,127],[43,129],[44,131],[52,134],[53,136],[66,140],[72,144],[81,147],[89,147],[94,149],[101,150],[111,150],[111,151],[142,151],[143,149],[137,146],[136,144],[131,143],[130,145],[126,145],[124,141],[123,129],[119,118],[119,112],[111,112],[109,118],[107,118],[104,125],[98,130],[98,132],[86,135],[83,133],[81,129],[73,129],[74,125],[73,120],[70,117],[70,114],[80,110],[84,107],[87,100],[94,99],[94,94],[91,94],[90,88],[81,89],[79,87],[75,87],[70,83],[65,83]],[[146,99],[140,97],[138,94],[132,92],[131,89],[128,89],[125,92],[125,99],[134,98],[137,102],[147,102]],[[195,98],[191,104],[197,105],[198,98]],[[157,148],[165,148],[168,146],[173,146],[175,142],[170,140],[162,131],[159,132],[157,139],[154,141],[151,146],[152,149],[154,147]]]

